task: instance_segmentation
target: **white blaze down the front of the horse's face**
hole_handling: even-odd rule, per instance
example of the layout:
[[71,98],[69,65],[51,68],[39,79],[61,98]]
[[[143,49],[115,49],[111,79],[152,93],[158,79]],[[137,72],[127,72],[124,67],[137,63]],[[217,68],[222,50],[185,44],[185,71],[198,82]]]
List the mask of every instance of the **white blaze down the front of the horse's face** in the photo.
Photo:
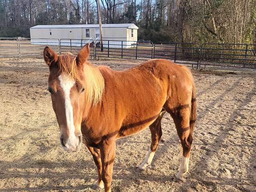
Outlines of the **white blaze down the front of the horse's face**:
[[75,84],[75,81],[69,78],[68,75],[60,75],[58,76],[60,81],[60,86],[64,92],[64,99],[65,99],[65,113],[67,119],[67,128],[69,131],[69,138],[67,139],[65,145],[67,148],[76,147],[78,145],[79,140],[75,136],[75,125],[74,125],[74,118],[73,118],[73,106],[70,99],[70,90]]

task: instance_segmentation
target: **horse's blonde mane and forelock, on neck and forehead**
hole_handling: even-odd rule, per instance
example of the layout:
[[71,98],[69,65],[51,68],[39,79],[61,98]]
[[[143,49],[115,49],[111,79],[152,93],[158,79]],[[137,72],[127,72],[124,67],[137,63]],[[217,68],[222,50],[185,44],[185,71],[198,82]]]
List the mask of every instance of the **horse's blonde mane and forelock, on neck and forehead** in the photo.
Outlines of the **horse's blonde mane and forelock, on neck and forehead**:
[[[76,64],[76,56],[72,53],[59,55],[58,62],[59,73],[67,73],[68,76],[75,81],[80,81],[78,68]],[[105,81],[99,68],[89,62],[84,64],[84,94],[87,105],[96,106],[102,100],[102,95],[105,90]]]

